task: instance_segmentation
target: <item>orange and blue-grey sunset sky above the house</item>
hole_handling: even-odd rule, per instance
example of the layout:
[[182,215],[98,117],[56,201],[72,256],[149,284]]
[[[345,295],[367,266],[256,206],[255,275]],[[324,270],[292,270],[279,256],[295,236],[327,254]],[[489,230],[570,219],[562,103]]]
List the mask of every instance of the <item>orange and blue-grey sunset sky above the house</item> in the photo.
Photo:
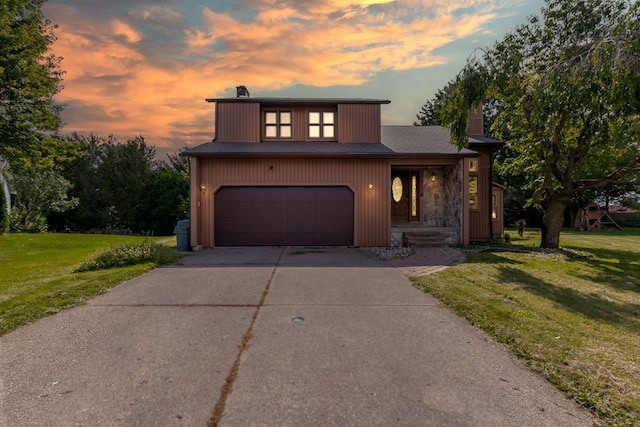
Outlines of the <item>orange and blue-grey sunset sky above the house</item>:
[[210,141],[204,99],[391,100],[411,124],[476,47],[543,0],[49,0],[59,28],[63,131],[143,135],[160,156]]

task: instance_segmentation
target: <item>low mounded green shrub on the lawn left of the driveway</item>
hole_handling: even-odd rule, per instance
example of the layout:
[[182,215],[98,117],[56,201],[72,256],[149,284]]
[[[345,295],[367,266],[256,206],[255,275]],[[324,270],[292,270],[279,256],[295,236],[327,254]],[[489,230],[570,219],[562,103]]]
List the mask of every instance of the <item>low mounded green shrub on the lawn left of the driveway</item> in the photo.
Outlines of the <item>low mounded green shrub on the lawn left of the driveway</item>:
[[126,244],[98,252],[83,262],[75,272],[104,270],[112,267],[153,263],[155,265],[170,264],[177,261],[180,254],[168,246],[145,240],[142,243]]

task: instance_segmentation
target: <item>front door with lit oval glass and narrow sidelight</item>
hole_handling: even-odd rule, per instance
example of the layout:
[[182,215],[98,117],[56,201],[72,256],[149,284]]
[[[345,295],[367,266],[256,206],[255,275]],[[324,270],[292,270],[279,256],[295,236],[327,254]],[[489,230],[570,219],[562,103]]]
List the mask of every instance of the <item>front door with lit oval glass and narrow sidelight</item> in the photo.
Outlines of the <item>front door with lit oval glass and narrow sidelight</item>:
[[420,173],[391,173],[391,222],[412,222],[420,219]]

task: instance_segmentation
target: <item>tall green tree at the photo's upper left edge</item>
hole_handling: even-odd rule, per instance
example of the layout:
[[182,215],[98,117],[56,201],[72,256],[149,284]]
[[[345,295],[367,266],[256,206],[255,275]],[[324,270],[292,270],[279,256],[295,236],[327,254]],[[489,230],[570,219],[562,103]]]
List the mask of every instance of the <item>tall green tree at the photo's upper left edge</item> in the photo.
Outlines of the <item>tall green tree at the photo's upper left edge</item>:
[[14,169],[51,167],[68,154],[56,137],[61,58],[49,50],[55,26],[42,13],[44,2],[0,2],[0,156]]

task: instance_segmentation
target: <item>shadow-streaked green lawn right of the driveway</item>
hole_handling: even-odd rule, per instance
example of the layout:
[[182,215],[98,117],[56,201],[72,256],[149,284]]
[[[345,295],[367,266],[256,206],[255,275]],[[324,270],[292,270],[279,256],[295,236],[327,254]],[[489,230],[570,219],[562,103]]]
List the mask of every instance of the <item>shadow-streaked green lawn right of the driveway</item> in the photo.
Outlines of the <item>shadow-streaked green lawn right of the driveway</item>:
[[[563,231],[470,248],[414,284],[511,347],[602,425],[640,425],[640,229]],[[516,251],[511,251],[515,249]]]

